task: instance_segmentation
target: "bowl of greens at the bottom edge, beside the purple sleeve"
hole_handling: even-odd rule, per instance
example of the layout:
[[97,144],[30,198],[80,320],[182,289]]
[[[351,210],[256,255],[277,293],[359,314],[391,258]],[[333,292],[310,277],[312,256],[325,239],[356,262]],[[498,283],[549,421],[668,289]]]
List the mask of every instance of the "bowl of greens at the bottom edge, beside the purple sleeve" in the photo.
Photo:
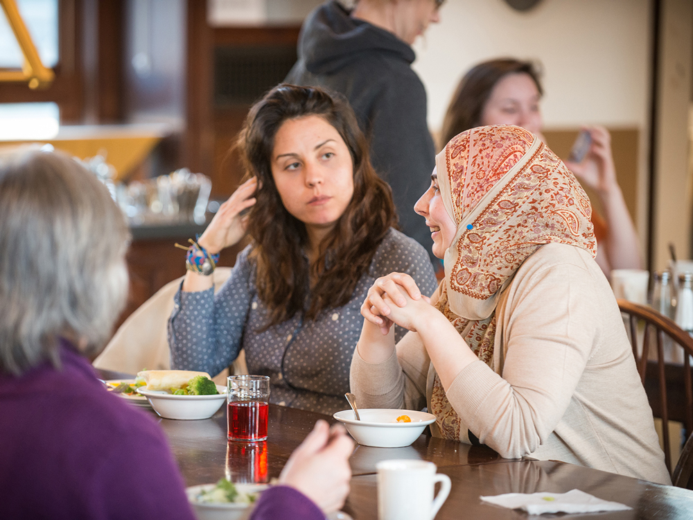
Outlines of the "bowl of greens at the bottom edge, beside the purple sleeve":
[[267,484],[234,484],[222,478],[216,484],[188,487],[185,491],[198,520],[236,520],[247,514]]

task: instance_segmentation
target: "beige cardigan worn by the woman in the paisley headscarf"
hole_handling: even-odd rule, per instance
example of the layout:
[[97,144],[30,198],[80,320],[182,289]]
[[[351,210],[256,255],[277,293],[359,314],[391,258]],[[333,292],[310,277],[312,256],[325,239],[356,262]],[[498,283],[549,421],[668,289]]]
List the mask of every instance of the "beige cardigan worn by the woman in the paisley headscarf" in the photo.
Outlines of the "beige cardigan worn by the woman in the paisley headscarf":
[[[496,313],[493,370],[477,361],[446,388],[463,431],[505,458],[671,483],[618,306],[588,252],[543,245],[520,266]],[[433,372],[421,338],[407,333],[396,353],[373,365],[354,351],[351,391],[360,407],[430,404]]]

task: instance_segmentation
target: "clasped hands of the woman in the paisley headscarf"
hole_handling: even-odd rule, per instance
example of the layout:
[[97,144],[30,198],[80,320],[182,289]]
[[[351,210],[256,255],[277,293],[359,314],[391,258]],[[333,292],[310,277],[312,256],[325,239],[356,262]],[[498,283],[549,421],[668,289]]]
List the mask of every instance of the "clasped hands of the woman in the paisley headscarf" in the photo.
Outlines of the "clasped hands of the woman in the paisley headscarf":
[[376,279],[361,305],[361,315],[386,335],[392,324],[416,331],[421,320],[433,310],[430,298],[424,296],[410,275],[391,272]]

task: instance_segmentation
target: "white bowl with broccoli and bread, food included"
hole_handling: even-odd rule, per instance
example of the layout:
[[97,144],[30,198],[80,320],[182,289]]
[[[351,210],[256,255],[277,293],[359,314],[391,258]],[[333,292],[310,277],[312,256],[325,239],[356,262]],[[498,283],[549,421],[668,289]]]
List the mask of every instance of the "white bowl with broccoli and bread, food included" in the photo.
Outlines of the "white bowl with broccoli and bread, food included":
[[[147,371],[148,374],[151,372],[155,371]],[[214,384],[207,374],[180,374],[184,372],[182,370],[170,372],[179,372],[176,374],[176,380],[173,380],[170,374],[164,374],[165,377],[159,379],[155,378],[157,374],[150,374],[147,385],[137,388],[137,392],[147,398],[160,417],[182,420],[209,419],[226,401],[226,387]],[[186,379],[188,375],[192,376]]]

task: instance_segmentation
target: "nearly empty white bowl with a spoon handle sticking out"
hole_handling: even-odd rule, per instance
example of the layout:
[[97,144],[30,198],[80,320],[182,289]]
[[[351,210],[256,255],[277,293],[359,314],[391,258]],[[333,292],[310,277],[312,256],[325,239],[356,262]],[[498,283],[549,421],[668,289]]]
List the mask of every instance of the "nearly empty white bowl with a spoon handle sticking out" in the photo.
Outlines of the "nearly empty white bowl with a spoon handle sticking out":
[[[354,417],[353,410],[342,410],[333,417],[344,423],[356,442],[378,448],[409,446],[423,433],[423,428],[435,422],[435,415],[416,410],[366,408],[358,410],[358,415],[360,421]],[[412,422],[397,422],[400,415],[409,415]]]

